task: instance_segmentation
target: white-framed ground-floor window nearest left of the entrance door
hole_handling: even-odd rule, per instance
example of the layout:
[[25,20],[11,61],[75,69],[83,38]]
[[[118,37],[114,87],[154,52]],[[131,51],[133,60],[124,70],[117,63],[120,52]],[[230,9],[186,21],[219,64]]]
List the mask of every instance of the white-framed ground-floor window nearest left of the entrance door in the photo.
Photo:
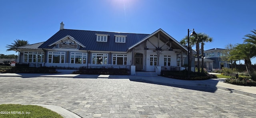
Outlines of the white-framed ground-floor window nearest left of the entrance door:
[[113,54],[112,63],[113,65],[127,65],[127,55]]

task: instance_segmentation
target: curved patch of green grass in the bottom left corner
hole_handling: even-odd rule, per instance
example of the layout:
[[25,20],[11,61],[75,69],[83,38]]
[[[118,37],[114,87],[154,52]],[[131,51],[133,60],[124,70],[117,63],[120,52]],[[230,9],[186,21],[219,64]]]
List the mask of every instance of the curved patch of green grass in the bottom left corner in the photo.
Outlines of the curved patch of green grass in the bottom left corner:
[[0,104],[0,118],[63,118],[60,114],[36,105]]

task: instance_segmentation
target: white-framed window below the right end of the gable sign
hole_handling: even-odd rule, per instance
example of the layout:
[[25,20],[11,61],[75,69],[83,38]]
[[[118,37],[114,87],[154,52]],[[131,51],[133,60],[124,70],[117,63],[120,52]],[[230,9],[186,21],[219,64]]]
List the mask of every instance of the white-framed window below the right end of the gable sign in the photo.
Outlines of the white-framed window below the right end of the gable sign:
[[75,53],[70,54],[70,63],[85,64],[87,58],[87,53]]

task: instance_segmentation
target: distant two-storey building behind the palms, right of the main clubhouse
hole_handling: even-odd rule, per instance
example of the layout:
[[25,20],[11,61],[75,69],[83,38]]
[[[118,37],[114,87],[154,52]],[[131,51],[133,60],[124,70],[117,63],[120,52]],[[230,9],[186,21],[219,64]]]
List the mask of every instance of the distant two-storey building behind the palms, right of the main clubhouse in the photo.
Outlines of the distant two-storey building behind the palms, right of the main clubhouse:
[[[221,60],[221,56],[225,55],[225,50],[226,49],[213,48],[204,51],[204,68],[209,71],[222,69],[222,67],[229,68],[229,63]],[[202,62],[202,59],[200,59],[200,62]],[[197,67],[197,59],[195,59],[195,64]]]

